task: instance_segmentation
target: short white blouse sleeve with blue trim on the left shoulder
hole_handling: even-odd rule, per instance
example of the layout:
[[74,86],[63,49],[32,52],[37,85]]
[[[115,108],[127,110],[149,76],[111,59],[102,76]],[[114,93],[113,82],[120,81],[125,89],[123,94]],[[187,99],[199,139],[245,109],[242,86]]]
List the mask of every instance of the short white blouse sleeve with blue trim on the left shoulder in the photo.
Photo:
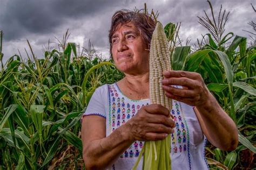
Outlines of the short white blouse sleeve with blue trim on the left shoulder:
[[[84,116],[89,116],[89,115],[98,115],[106,118],[103,98],[104,97],[102,96],[102,93],[100,93],[100,88],[97,88],[93,93],[89,104],[87,105],[87,108],[82,116],[82,119]],[[82,122],[82,119],[81,119],[81,122]]]

